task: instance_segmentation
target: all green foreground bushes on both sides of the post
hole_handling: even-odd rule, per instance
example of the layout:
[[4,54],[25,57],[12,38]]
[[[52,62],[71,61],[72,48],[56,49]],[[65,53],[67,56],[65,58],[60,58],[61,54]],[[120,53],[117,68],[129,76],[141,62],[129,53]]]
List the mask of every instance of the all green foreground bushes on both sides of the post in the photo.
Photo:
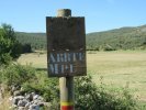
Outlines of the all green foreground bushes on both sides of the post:
[[[58,80],[47,78],[46,73],[13,64],[4,68],[4,73],[0,72],[0,75],[2,82],[9,87],[16,85],[23,88],[22,92],[37,92],[52,103],[50,110],[59,110]],[[128,88],[111,91],[102,80],[97,87],[90,76],[75,79],[75,94],[76,110],[139,110]]]

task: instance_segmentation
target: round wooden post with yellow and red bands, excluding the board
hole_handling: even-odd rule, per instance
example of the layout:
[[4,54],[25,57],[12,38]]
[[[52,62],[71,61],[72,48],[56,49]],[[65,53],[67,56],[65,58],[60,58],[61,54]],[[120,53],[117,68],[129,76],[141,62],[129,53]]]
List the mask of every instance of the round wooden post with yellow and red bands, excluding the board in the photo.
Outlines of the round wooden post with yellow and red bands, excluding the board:
[[[58,10],[57,16],[71,16],[71,10]],[[74,110],[74,77],[60,77],[60,110]]]

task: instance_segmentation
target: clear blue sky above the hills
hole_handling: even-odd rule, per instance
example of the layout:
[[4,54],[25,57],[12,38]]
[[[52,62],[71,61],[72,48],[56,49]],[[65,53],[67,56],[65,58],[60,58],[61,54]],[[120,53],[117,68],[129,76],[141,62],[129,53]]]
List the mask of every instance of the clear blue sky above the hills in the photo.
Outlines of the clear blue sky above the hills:
[[86,33],[146,24],[146,0],[0,0],[0,23],[19,32],[46,32],[46,16],[70,9],[86,18]]

